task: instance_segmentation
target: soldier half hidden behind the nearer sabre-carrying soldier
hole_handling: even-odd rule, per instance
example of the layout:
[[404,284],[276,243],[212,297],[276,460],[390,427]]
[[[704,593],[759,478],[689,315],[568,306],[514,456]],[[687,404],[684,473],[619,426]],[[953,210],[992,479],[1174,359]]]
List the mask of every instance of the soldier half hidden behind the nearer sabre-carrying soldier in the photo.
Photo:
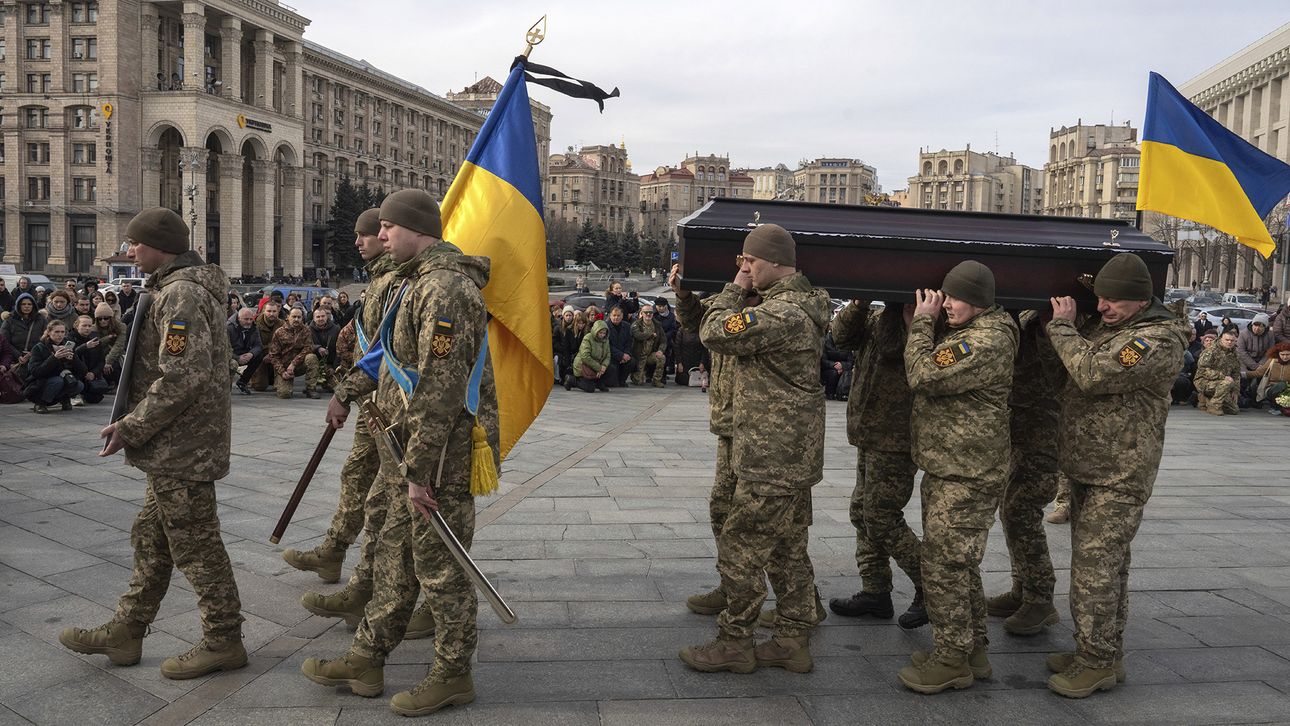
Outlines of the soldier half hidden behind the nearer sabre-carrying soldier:
[[[355,330],[356,349],[351,356],[355,361],[375,344],[391,290],[400,281],[395,275],[396,266],[386,254],[379,235],[381,210],[373,208],[360,214],[353,224],[353,246],[357,248],[359,257],[366,262],[369,282],[366,295],[347,326]],[[353,368],[346,369],[333,396],[341,405],[348,407],[375,391],[375,379],[362,369]],[[368,422],[359,417],[353,428],[353,446],[344,466],[341,467],[341,502],[332,517],[326,538],[322,544],[307,552],[295,549],[283,552],[283,560],[290,566],[317,573],[322,582],[334,583],[341,579],[341,564],[344,561],[346,549],[359,536],[360,527],[366,531],[362,549],[359,552],[359,564],[343,589],[333,594],[307,592],[301,596],[301,605],[315,615],[344,618],[350,625],[357,625],[362,620],[362,611],[372,600],[372,558],[377,549],[377,535],[386,521],[388,505],[386,489],[374,486],[379,468],[381,456],[368,431]],[[408,622],[404,638],[423,638],[433,632],[435,620],[430,607],[422,605]]]

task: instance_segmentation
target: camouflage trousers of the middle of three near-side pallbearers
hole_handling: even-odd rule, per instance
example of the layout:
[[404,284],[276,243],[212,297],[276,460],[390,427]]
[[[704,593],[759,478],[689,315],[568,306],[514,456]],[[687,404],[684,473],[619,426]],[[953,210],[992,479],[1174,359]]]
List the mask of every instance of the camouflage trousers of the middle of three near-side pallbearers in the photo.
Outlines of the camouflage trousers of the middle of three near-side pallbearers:
[[989,642],[980,560],[1005,484],[922,477],[922,591],[943,662]]

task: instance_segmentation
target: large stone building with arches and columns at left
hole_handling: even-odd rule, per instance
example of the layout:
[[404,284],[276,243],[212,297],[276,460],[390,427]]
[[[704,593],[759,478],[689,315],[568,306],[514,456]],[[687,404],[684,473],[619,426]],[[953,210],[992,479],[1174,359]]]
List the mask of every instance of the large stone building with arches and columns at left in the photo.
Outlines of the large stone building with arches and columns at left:
[[495,92],[452,102],[308,23],[276,0],[0,0],[0,260],[102,273],[168,206],[231,277],[312,276],[341,177],[441,199]]

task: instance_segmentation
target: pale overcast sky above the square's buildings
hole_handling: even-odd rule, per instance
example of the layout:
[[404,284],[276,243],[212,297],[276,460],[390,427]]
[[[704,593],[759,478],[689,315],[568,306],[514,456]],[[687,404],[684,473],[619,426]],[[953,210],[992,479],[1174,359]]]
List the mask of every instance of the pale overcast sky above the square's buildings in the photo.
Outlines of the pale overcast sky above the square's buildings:
[[[355,12],[360,8],[359,12]],[[1147,72],[1182,85],[1290,21],[1285,0],[648,3],[298,1],[306,39],[435,93],[533,61],[622,97],[604,115],[542,86],[551,151],[627,142],[636,173],[686,155],[793,168],[842,156],[903,188],[920,147],[1041,166],[1050,126],[1142,128]]]

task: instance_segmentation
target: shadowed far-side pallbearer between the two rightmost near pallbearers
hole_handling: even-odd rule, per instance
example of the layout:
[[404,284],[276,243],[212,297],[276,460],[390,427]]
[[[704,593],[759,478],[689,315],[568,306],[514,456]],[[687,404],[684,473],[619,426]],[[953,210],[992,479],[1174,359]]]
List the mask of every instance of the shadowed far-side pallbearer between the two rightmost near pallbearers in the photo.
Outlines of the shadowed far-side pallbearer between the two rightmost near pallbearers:
[[1018,317],[1020,343],[1013,369],[1013,473],[1004,487],[998,520],[1013,565],[1013,589],[986,601],[1014,636],[1033,636],[1058,622],[1053,607],[1053,558],[1044,533],[1044,507],[1057,495],[1062,469],[1057,460],[1058,407],[1066,368],[1035,311]]

